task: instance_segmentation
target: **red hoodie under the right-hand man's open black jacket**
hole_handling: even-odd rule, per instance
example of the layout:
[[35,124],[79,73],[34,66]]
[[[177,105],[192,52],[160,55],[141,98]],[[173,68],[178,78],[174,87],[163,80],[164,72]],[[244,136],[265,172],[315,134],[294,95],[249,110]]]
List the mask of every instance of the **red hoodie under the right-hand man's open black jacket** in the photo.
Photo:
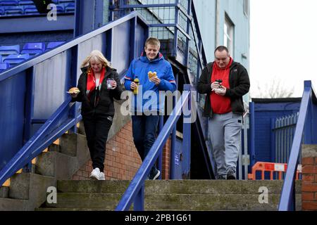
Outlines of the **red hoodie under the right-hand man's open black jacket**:
[[[217,63],[213,63],[213,72],[211,74],[211,83],[216,82],[216,79],[223,80],[223,86],[226,89],[230,89],[229,84],[229,74],[230,74],[230,66],[232,65],[233,59],[230,57],[230,63],[226,68],[221,69],[218,67]],[[232,111],[231,108],[231,100],[228,96],[220,96],[215,93],[215,91],[211,91],[210,94],[211,101],[211,110],[216,114],[225,114],[230,113]]]

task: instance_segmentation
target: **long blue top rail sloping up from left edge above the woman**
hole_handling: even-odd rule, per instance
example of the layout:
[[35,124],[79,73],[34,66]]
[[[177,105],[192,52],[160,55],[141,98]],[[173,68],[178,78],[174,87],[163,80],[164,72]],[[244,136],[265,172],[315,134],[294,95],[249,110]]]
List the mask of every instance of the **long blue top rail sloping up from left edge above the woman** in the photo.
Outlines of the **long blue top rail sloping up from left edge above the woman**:
[[[120,18],[118,20],[115,20],[111,23],[108,23],[104,25],[103,27],[100,27],[97,30],[94,30],[93,32],[90,32],[89,34],[84,34],[80,37],[77,37],[76,39],[73,39],[72,41],[69,41],[66,44],[63,44],[56,49],[52,49],[51,51],[47,51],[46,53],[42,53],[40,56],[37,56],[35,58],[31,58],[30,60],[26,60],[24,63],[21,63],[20,65],[15,66],[14,68],[9,68],[5,72],[0,73],[0,82],[3,81],[4,79],[8,79],[9,77],[12,77],[19,72],[22,72],[23,70],[26,70],[27,68],[30,68],[34,65],[37,65],[38,63],[41,63],[44,60],[47,60],[53,56],[56,56],[58,53],[62,53],[63,51],[66,51],[73,46],[76,46],[77,44],[82,43],[83,41],[87,41],[88,39],[91,39],[92,37],[97,36],[98,34],[101,34],[103,32],[106,32],[107,30],[112,29],[113,27],[116,27],[122,23],[127,22],[128,20],[131,20],[132,18],[138,17],[139,13],[136,11],[125,15],[125,17]],[[147,26],[147,23],[144,22],[142,18],[139,18],[139,22],[143,22],[144,26]]]

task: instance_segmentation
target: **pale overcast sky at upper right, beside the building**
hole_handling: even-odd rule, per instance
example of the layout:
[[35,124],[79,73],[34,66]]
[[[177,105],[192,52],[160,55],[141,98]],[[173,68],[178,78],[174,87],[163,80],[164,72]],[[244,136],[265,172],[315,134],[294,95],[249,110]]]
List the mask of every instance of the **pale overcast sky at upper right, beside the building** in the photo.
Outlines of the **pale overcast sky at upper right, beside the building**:
[[251,97],[258,84],[281,80],[302,97],[304,80],[317,89],[317,1],[250,1]]

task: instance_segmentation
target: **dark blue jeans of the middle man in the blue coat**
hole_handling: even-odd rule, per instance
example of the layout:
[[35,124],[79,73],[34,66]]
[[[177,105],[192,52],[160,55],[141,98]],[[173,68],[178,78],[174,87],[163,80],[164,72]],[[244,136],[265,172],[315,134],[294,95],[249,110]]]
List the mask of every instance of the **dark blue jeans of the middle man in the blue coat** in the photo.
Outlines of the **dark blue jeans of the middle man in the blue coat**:
[[[159,115],[132,115],[133,141],[142,161],[147,157],[156,140],[159,118]],[[156,166],[154,164],[151,171],[155,170]]]

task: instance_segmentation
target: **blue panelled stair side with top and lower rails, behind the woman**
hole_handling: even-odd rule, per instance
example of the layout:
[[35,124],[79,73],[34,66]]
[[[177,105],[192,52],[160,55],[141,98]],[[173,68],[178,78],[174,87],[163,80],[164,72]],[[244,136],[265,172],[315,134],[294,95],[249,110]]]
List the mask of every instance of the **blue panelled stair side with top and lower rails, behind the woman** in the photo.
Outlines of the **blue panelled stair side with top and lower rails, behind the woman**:
[[1,184],[67,130],[75,131],[80,105],[70,104],[66,91],[76,86],[80,63],[93,49],[104,52],[124,75],[125,65],[132,58],[130,54],[111,52],[113,44],[119,46],[113,34],[127,39],[127,46],[144,43],[148,26],[137,12],[132,12],[0,74],[0,89],[4,91],[0,100],[6,105],[0,109],[0,130],[5,131],[0,137]]

